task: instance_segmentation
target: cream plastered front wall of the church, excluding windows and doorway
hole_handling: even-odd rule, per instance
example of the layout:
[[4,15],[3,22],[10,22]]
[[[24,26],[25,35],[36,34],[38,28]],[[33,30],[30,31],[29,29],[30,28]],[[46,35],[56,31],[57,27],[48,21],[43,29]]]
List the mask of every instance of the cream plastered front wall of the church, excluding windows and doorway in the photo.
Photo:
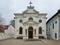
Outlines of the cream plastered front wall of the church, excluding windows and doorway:
[[[16,14],[15,15],[16,17],[15,17],[15,34],[16,35],[20,35],[20,36],[25,36],[25,28],[26,27],[28,27],[28,26],[30,26],[30,25],[27,25],[26,27],[24,27],[24,22],[29,22],[29,18],[30,17],[32,17],[33,18],[33,23],[35,24],[35,22],[36,23],[38,23],[38,26],[36,26],[36,25],[33,25],[34,27],[36,26],[37,27],[37,29],[36,30],[39,30],[39,27],[42,27],[42,34],[41,35],[43,35],[45,38],[47,37],[46,36],[46,14],[39,14],[39,13],[37,13],[36,11],[34,11],[34,8],[32,8],[32,7],[30,7],[30,8],[27,8],[27,10],[25,11],[25,13],[22,13],[22,15],[21,14]],[[19,21],[22,19],[22,23],[20,23]],[[39,23],[39,20],[42,20],[42,23]],[[24,29],[24,33],[23,34],[19,34],[19,28],[20,27],[23,27]],[[37,31],[37,33],[38,33],[38,31]],[[37,34],[38,35],[38,34]],[[41,35],[39,35],[39,36],[41,36]]]

